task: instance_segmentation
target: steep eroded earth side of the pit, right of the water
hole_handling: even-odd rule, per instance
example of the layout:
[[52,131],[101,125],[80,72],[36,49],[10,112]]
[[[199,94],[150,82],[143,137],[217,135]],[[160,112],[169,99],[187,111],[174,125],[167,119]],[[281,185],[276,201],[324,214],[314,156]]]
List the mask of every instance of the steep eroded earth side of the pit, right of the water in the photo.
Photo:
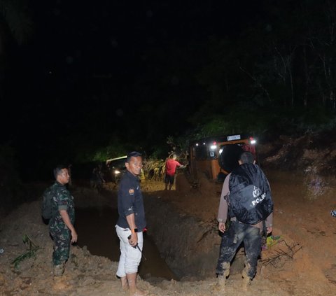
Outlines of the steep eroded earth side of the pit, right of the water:
[[148,235],[179,278],[214,276],[221,237],[213,224],[178,213],[154,195],[146,194],[145,208]]

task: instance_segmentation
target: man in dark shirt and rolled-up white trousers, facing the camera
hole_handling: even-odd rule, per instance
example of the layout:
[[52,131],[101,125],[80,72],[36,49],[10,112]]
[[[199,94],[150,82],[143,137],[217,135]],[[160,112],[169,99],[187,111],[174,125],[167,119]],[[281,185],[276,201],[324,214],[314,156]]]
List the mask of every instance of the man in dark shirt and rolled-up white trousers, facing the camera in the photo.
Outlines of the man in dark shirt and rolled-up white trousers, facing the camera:
[[120,260],[117,276],[123,290],[129,288],[131,296],[146,293],[137,288],[137,272],[144,246],[143,230],[146,227],[144,200],[139,175],[142,157],[139,152],[131,152],[125,162],[127,171],[119,183],[118,213],[116,232],[120,239]]

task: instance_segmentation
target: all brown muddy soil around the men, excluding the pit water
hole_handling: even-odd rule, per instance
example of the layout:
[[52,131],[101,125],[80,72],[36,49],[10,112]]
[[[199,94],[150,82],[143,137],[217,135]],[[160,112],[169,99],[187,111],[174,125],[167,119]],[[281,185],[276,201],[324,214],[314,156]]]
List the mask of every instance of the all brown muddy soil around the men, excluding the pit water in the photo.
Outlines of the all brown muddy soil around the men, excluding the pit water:
[[[309,141],[301,139],[297,143],[297,139],[281,139],[276,148],[267,144],[260,151],[260,165],[269,178],[274,198],[272,234],[279,239],[274,246],[262,251],[258,274],[248,291],[241,288],[241,274],[237,267],[228,279],[226,295],[335,295],[336,218],[330,215],[330,211],[336,209],[335,167],[330,167],[325,159],[332,163],[336,146],[318,147],[313,145],[314,139]],[[301,149],[301,153],[295,147]],[[296,170],[293,169],[293,152],[297,160]],[[290,161],[289,171],[279,169],[281,163],[287,161]],[[209,256],[221,241],[215,220],[221,184],[201,179],[197,188],[191,188],[181,173],[172,191],[163,190],[163,183],[155,181],[145,181],[142,188],[148,206],[146,214],[150,212],[148,231],[152,229],[154,238],[160,235],[155,230],[155,222],[163,225],[172,221],[171,225],[177,224],[174,237],[178,237],[179,223],[188,227],[188,231],[183,237],[186,244],[179,241],[172,253],[169,250],[173,250],[174,237],[167,235],[165,239],[160,238],[161,244],[155,241],[160,252],[168,254],[169,266],[174,269],[181,265],[181,271],[185,273],[181,281],[160,279],[154,282],[139,278],[140,288],[147,290],[148,295],[159,296],[223,295],[223,291],[216,287],[216,278],[211,272],[216,266],[216,258]],[[105,190],[109,192],[115,188],[107,184]],[[76,184],[72,192],[76,205],[80,207],[106,207],[113,206],[115,202],[108,195],[94,194],[88,188],[76,187]],[[155,204],[160,208],[155,208]],[[166,211],[161,210],[165,205]],[[158,213],[156,218],[155,213]],[[176,216],[180,220],[174,220]],[[53,279],[52,241],[48,236],[48,226],[40,218],[40,202],[22,204],[0,223],[0,248],[4,250],[0,254],[0,295],[127,295],[120,291],[120,283],[116,279],[117,262],[92,255],[86,247],[71,248],[64,276]],[[99,225],[96,227],[98,230]],[[165,228],[158,228],[165,232]],[[193,236],[193,230],[197,230],[197,238]],[[22,241],[25,234],[40,248],[34,257],[23,260],[15,268],[11,262],[27,251],[27,245]],[[103,232],[102,235],[112,236],[115,233]],[[189,244],[189,241],[197,244]],[[177,254],[179,250],[181,254]],[[206,261],[207,264],[204,263]],[[188,265],[190,275],[186,274]],[[198,276],[191,272],[200,266],[207,272],[197,272]]]

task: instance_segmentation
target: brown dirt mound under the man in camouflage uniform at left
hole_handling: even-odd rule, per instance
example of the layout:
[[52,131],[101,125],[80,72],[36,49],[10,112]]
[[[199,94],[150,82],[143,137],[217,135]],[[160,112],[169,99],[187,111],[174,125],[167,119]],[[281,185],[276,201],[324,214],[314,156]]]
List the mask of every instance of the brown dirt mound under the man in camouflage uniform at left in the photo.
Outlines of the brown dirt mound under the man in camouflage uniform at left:
[[[91,255],[86,248],[71,248],[64,276],[52,276],[52,241],[48,225],[40,216],[40,203],[25,204],[1,224],[1,295],[120,295],[116,279],[117,263]],[[15,267],[12,262],[27,252],[22,236],[28,235],[38,246],[36,254]],[[148,283],[141,283],[148,288]]]

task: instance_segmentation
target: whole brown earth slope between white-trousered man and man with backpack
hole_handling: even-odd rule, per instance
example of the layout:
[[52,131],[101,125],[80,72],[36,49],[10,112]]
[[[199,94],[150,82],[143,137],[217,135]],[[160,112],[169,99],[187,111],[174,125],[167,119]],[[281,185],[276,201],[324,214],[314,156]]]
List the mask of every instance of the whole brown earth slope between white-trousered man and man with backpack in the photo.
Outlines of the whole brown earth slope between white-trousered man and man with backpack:
[[[221,183],[200,178],[197,188],[180,172],[173,190],[162,190],[162,183],[144,183],[148,234],[154,239],[162,258],[183,280],[216,278],[221,244],[216,212]],[[232,262],[231,274],[244,269],[244,249]]]

